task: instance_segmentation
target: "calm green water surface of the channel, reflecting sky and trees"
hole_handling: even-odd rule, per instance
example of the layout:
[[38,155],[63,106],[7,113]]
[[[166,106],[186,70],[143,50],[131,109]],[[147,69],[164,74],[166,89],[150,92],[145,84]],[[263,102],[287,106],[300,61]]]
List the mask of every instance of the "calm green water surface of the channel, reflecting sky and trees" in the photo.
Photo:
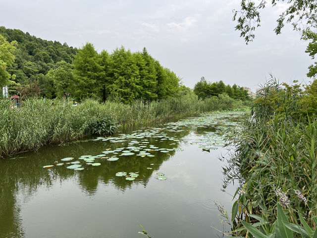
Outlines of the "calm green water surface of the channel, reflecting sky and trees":
[[[213,201],[230,210],[228,193],[235,191],[233,185],[227,193],[220,190],[219,157],[227,153],[221,145],[241,118],[226,113],[188,119],[0,160],[0,238],[142,238],[138,222],[153,238],[217,237],[211,226],[222,226]],[[103,151],[119,159],[95,158],[100,166],[79,159]],[[120,156],[122,151],[134,155]],[[74,159],[61,161],[65,157]],[[74,161],[84,170],[66,168]],[[156,179],[157,173],[167,179]]]

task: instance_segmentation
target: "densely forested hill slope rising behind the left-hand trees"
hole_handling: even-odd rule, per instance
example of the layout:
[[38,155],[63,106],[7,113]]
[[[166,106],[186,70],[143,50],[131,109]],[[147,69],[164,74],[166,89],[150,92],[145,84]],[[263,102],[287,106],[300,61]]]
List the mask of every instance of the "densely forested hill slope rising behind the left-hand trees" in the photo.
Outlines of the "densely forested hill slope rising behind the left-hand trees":
[[[6,29],[0,27],[0,37],[4,37],[11,45],[17,42],[17,49],[14,51],[14,63],[7,65],[7,72],[15,74],[13,79],[17,84],[26,86],[31,81],[38,79],[39,75],[46,75],[51,69],[59,67],[56,63],[63,60],[72,63],[77,49],[68,47],[66,43],[47,41],[31,36],[17,29]],[[14,59],[6,56],[6,59]],[[54,91],[47,92],[47,78],[40,80],[40,86],[45,90],[43,93],[54,95]],[[54,90],[49,88],[48,90]]]

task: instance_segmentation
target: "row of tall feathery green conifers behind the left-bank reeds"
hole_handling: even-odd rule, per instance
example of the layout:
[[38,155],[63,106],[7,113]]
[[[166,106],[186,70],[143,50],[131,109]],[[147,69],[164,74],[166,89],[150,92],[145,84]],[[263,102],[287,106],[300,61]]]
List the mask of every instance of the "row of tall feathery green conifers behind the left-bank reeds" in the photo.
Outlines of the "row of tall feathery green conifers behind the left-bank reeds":
[[[98,54],[87,43],[73,61],[76,97],[82,99],[93,95],[124,103],[134,100],[151,101],[174,96],[179,90],[180,79],[159,61],[143,52],[132,53],[124,47],[111,54]],[[91,85],[94,85],[93,87]]]

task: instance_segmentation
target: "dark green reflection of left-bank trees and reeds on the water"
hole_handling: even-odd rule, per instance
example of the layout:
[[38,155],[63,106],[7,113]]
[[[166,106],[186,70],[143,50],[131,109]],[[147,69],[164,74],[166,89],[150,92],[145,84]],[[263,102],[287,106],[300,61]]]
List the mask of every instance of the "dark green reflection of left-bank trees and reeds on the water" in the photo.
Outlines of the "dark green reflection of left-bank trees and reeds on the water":
[[[187,128],[182,132],[168,133],[167,136],[175,136],[180,139],[189,132],[190,130]],[[152,144],[159,148],[171,149],[179,146],[178,141],[159,142],[155,141],[159,138],[148,139],[149,145]],[[175,144],[170,145],[171,143]],[[85,170],[78,172],[66,169],[65,166],[55,166],[50,170],[43,169],[43,166],[51,165],[54,161],[60,161],[65,157],[74,157],[76,160],[81,155],[98,155],[102,154],[106,148],[126,147],[127,144],[128,142],[110,144],[102,141],[70,143],[65,146],[43,147],[37,152],[26,152],[17,156],[26,158],[0,160],[0,238],[24,237],[19,218],[18,194],[23,193],[24,199],[30,199],[40,186],[51,187],[56,181],[62,182],[71,177],[78,178],[81,189],[87,194],[94,194],[100,182],[111,183],[121,191],[125,191],[135,183],[147,186],[153,171],[159,170],[161,164],[175,154],[175,151],[169,151],[169,153],[155,151],[151,152],[155,157],[118,156],[117,161],[102,160],[101,166],[85,165]],[[84,161],[81,164],[83,163]],[[150,164],[155,165],[150,166]],[[148,170],[147,167],[151,167],[153,170]],[[125,177],[116,177],[115,174],[121,171],[139,172],[139,177],[133,181],[125,180]]]

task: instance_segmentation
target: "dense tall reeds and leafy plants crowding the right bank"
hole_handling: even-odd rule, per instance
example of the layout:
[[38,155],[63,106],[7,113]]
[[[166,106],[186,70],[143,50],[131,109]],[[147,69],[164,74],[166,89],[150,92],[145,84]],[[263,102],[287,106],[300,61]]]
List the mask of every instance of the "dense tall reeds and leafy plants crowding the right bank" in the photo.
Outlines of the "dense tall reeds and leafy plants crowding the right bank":
[[[236,180],[226,235],[245,238],[317,237],[317,80],[278,84],[271,79],[251,116],[229,143],[225,182]],[[238,175],[238,176],[237,176]]]

